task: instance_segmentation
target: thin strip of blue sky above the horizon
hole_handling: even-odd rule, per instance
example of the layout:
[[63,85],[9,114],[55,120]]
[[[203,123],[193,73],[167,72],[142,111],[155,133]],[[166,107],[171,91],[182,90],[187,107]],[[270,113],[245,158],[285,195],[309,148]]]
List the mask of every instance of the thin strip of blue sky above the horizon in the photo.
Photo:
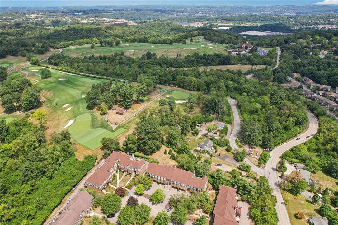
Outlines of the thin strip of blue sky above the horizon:
[[0,6],[100,5],[338,5],[338,0],[1,0]]

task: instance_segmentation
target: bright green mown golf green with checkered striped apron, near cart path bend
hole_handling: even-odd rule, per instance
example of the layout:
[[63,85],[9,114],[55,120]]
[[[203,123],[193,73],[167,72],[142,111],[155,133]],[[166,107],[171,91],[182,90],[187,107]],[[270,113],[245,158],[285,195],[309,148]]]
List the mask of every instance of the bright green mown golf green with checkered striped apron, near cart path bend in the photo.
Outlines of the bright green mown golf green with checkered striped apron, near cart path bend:
[[102,138],[114,138],[126,130],[118,128],[111,132],[103,128],[91,129],[91,119],[90,113],[84,113],[76,117],[75,122],[68,127],[68,131],[74,140],[91,150],[101,146]]

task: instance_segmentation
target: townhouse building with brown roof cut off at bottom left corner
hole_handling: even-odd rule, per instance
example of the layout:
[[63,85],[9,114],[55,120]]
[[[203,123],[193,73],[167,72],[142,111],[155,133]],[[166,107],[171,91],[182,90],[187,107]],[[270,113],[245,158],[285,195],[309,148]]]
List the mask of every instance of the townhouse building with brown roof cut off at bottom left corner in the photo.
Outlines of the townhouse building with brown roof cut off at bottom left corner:
[[83,190],[77,193],[73,199],[68,199],[67,205],[59,211],[56,218],[50,224],[53,225],[78,225],[85,216],[92,211],[94,197]]

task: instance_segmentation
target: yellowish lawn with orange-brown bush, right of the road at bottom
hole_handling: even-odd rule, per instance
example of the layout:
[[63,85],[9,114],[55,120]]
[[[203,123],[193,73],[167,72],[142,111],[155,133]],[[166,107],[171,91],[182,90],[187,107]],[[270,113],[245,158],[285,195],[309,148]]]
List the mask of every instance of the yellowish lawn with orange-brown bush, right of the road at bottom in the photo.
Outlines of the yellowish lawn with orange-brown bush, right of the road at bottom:
[[[317,214],[317,207],[312,204],[311,201],[303,197],[302,195],[298,195],[298,197],[287,193],[284,195],[285,191],[283,192],[283,197],[288,198],[290,200],[290,204],[286,205],[286,210],[288,211],[288,215],[291,221],[291,225],[303,225],[306,224],[306,219],[311,218],[312,216],[319,216]],[[295,214],[297,212],[302,212],[305,215],[304,219],[297,219]]]

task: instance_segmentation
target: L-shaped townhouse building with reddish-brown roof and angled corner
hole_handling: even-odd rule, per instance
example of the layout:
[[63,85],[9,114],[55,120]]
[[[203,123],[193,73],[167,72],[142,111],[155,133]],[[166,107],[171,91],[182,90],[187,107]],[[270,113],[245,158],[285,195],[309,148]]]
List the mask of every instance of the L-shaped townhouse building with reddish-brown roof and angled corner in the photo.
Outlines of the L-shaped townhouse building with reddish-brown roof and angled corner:
[[122,154],[113,152],[103,160],[102,166],[97,166],[90,172],[90,177],[84,182],[87,188],[101,192],[103,188],[111,182],[114,171],[119,169],[122,172],[143,174],[146,167],[144,159],[136,159],[134,154]]

